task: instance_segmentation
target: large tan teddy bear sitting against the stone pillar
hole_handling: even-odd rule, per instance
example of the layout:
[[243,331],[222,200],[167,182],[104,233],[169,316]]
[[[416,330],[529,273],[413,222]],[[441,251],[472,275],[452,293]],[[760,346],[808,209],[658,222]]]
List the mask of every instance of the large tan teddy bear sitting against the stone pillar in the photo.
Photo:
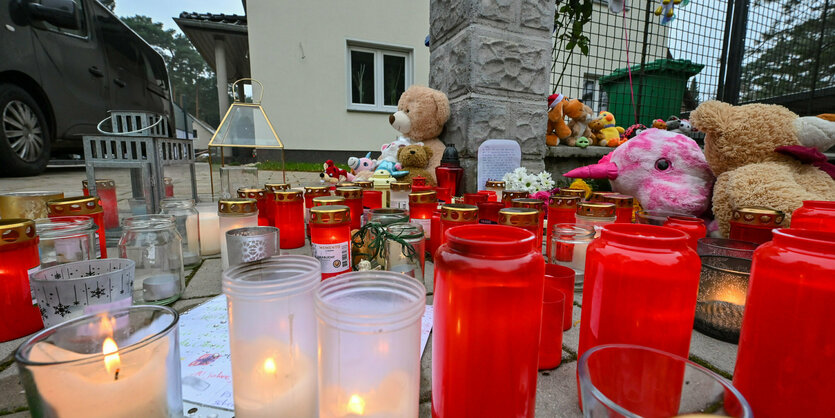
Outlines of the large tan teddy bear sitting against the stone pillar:
[[[435,167],[441,165],[441,156],[446,148],[438,139],[449,120],[449,99],[441,91],[424,86],[411,86],[397,102],[397,112],[389,116],[389,123],[414,144],[423,142],[432,152],[425,168],[425,177],[435,181]],[[406,164],[401,160],[405,167]],[[410,176],[411,177],[411,176]]]

